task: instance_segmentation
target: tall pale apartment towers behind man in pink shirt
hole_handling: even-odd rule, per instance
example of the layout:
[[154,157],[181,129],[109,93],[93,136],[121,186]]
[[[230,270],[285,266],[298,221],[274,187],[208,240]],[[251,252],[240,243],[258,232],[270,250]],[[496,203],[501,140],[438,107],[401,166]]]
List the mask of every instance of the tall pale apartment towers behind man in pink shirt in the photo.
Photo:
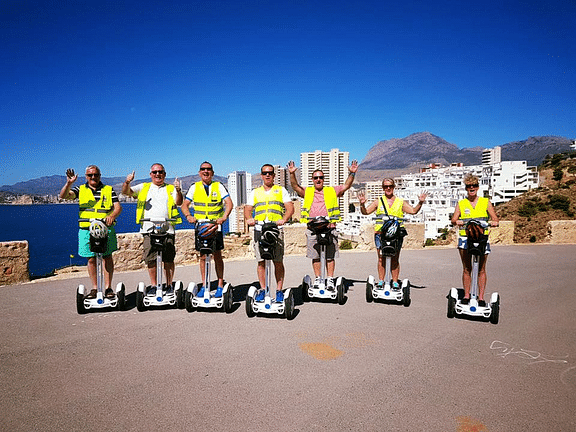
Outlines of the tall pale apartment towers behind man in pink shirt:
[[[340,186],[348,178],[348,164],[350,154],[341,152],[338,149],[332,149],[329,152],[316,150],[309,153],[300,153],[300,185],[303,188],[313,186],[312,173],[315,170],[324,172],[325,186]],[[346,193],[340,202],[340,214],[342,218],[348,215],[349,194]]]

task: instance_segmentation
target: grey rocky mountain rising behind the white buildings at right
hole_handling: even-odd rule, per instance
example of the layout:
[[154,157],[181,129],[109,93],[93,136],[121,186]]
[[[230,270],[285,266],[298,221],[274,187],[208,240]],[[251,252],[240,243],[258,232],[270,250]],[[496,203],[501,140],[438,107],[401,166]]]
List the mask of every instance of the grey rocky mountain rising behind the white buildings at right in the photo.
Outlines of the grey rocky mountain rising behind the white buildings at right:
[[[528,165],[539,165],[547,154],[570,149],[571,141],[564,137],[530,137],[501,145],[502,160],[525,160]],[[392,138],[374,145],[360,164],[361,170],[391,170],[441,163],[464,165],[482,163],[482,147],[458,148],[455,144],[430,132],[418,132],[406,138]]]

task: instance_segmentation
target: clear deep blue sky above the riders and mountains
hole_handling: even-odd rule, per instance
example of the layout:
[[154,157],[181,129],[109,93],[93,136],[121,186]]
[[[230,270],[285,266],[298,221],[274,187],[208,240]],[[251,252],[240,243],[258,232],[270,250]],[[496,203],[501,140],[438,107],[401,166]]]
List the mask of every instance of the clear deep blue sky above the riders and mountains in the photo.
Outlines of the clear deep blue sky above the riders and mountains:
[[0,1],[0,185],[576,138],[576,2]]

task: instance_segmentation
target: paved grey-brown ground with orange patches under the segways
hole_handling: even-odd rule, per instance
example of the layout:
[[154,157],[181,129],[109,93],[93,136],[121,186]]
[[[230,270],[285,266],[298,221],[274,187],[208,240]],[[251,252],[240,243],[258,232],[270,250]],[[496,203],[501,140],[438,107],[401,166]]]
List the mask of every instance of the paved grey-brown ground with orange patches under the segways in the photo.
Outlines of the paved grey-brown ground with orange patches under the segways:
[[[237,310],[77,315],[82,278],[0,289],[0,429],[576,430],[576,246],[497,246],[498,325],[446,318],[453,249],[402,252],[412,305],[366,303],[374,253],[342,253],[343,306],[249,319],[254,261],[226,264]],[[310,271],[286,259],[287,285]],[[177,269],[186,284],[196,267]],[[146,273],[119,273],[129,292]],[[300,296],[297,296],[299,299]]]

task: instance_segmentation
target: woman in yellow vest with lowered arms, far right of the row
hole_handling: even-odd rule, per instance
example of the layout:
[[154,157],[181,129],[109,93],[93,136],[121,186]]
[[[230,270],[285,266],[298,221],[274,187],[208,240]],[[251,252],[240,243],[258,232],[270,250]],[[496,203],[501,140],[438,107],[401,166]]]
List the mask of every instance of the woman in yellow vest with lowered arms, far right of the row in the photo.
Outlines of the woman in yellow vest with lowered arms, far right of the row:
[[[470,302],[470,285],[472,284],[472,260],[467,249],[466,231],[464,225],[469,219],[481,219],[488,221],[490,219],[490,226],[498,226],[498,216],[494,206],[488,198],[478,196],[479,181],[478,177],[472,174],[464,177],[464,185],[468,196],[458,202],[454,209],[452,216],[452,225],[460,227],[458,236],[458,251],[460,252],[460,259],[462,260],[462,284],[464,285],[464,298],[461,300],[462,304]],[[488,234],[488,231],[485,232]],[[478,271],[478,305],[481,307],[486,306],[484,301],[484,290],[486,289],[486,261],[488,261],[488,254],[490,253],[490,242],[486,245],[485,255],[480,257],[479,271]]]

